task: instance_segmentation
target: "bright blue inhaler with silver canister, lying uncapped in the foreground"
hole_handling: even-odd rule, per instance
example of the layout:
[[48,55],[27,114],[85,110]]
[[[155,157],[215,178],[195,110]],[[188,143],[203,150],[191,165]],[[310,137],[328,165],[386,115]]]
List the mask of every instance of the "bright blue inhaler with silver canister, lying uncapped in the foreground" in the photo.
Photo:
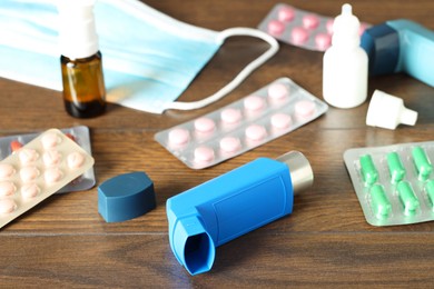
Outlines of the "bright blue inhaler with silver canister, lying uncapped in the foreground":
[[297,151],[259,158],[167,200],[169,241],[190,275],[211,269],[216,247],[292,213],[314,173]]

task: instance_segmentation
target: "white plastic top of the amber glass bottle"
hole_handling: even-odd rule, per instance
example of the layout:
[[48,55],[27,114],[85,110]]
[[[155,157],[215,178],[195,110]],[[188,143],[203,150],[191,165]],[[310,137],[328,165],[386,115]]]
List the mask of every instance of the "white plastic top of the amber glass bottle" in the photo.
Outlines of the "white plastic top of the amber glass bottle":
[[80,59],[98,52],[93,6],[95,0],[58,1],[59,46],[62,56]]

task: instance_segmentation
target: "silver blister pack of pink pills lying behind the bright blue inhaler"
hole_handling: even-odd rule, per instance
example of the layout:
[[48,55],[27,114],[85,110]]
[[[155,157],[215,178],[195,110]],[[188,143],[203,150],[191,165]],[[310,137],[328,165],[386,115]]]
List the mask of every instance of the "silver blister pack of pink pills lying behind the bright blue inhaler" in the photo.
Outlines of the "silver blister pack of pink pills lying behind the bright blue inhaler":
[[193,169],[204,169],[288,133],[327,111],[326,103],[288,78],[155,139]]

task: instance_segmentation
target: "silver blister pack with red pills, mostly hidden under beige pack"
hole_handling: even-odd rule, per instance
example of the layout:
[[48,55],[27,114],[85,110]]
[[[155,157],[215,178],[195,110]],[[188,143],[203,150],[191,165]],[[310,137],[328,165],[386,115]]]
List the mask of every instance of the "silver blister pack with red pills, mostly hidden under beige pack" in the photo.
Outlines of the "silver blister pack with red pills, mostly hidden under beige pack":
[[[87,153],[92,155],[90,148],[89,128],[85,126],[78,126],[67,129],[61,129],[67,137],[77,142]],[[26,143],[38,137],[39,133],[26,133],[18,136],[8,136],[0,138],[0,160],[18,151]],[[71,191],[82,191],[92,188],[96,183],[93,168],[85,171],[70,183],[61,188],[57,193],[65,193]]]

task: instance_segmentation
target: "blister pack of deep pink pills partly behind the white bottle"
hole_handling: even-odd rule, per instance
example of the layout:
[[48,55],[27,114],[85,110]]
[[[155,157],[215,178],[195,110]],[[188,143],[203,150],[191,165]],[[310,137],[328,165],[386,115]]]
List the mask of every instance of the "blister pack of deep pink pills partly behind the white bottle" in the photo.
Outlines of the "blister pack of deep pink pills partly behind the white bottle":
[[[258,29],[285,43],[325,51],[332,44],[333,22],[334,18],[278,3],[259,23]],[[361,23],[359,33],[367,27]]]

